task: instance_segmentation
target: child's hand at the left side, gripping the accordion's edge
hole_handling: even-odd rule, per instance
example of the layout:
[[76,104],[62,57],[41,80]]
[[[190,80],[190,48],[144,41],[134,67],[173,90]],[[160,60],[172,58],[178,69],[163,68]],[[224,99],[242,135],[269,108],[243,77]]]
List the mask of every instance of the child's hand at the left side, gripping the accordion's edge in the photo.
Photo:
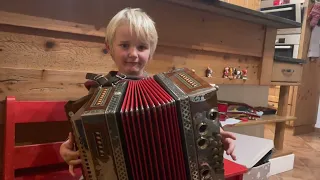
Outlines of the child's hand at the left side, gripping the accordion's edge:
[[70,174],[72,176],[75,176],[73,167],[80,164],[81,159],[79,159],[79,151],[74,151],[74,137],[71,133],[69,133],[68,140],[62,143],[62,145],[60,146],[60,156],[67,164],[69,164]]

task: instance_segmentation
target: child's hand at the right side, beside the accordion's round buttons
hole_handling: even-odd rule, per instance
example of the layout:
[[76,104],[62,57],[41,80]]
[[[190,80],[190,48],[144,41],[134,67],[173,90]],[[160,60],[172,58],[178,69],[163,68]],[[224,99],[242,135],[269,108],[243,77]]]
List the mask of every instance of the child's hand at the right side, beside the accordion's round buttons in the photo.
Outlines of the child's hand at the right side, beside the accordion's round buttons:
[[236,140],[236,137],[232,133],[224,131],[222,128],[220,128],[220,131],[224,150],[226,151],[227,155],[232,157],[233,160],[237,160],[237,157],[234,154],[234,140]]

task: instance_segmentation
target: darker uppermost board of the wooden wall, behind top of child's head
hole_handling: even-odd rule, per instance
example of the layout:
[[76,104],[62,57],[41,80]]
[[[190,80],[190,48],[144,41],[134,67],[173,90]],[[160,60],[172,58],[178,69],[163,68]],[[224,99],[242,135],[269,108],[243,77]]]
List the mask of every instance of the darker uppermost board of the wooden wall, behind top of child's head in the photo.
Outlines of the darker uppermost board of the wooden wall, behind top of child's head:
[[[159,0],[120,0],[112,4],[103,0],[94,3],[84,0],[75,2],[77,3],[41,0],[8,1],[0,7],[0,11],[4,11],[0,16],[0,22],[62,31],[70,29],[77,33],[103,37],[104,34],[101,32],[104,32],[107,22],[116,12],[124,7],[140,7],[155,20],[160,44],[262,56],[264,29],[260,25],[177,7]],[[16,6],[17,3],[20,4],[19,7]],[[163,13],[164,9],[166,13]],[[14,18],[14,21],[8,18]],[[58,28],[55,28],[57,23],[50,19],[59,21]],[[243,33],[244,36],[229,38],[229,35],[235,32]]]

